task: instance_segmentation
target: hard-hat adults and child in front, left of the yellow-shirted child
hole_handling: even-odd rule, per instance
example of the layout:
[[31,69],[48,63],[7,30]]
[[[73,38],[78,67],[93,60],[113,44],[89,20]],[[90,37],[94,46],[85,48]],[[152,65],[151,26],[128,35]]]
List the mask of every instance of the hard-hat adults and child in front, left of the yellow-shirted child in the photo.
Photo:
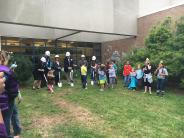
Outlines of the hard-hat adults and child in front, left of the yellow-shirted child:
[[68,84],[72,87],[74,86],[73,82],[73,59],[70,56],[70,52],[66,52],[64,59],[64,68],[61,67],[59,55],[55,55],[54,61],[51,61],[50,51],[46,51],[45,55],[41,57],[33,69],[33,90],[40,89],[41,86],[47,86],[50,93],[54,92],[54,84],[58,87],[62,87],[61,81],[61,72],[62,69],[65,72]]

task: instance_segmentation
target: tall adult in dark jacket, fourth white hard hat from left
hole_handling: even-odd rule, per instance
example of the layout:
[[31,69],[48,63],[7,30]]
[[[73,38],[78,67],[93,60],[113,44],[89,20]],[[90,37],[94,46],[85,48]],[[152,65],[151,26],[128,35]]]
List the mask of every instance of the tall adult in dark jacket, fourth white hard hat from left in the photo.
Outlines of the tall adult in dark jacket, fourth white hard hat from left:
[[74,86],[73,59],[71,58],[70,52],[66,52],[66,56],[64,59],[64,71],[65,71],[65,75],[67,77],[68,83],[71,85],[71,87],[73,87]]

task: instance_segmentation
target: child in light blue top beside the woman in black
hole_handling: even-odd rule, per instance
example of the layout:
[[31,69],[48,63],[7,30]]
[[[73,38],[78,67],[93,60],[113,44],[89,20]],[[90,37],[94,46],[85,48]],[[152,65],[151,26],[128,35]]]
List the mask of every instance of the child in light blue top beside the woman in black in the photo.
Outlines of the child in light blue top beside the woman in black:
[[143,77],[143,71],[141,69],[141,65],[138,64],[137,65],[137,70],[135,71],[136,72],[136,79],[137,79],[137,86],[139,89],[141,89],[142,87],[142,77]]

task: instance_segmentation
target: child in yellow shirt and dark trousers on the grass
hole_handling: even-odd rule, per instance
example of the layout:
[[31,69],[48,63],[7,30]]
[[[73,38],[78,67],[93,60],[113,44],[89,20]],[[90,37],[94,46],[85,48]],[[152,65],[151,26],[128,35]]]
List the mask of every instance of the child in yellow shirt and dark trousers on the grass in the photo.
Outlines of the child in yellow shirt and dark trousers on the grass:
[[87,89],[87,66],[86,63],[83,62],[81,66],[81,81],[82,81],[82,87],[84,89]]

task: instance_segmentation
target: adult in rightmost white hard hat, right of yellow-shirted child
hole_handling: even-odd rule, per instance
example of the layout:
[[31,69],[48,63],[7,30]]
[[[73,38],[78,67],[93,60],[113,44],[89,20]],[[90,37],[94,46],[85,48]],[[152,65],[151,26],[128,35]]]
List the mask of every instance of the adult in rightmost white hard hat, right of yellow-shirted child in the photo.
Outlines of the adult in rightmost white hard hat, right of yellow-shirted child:
[[92,56],[91,59],[91,85],[94,85],[95,83],[97,83],[98,64],[96,64],[96,56]]

